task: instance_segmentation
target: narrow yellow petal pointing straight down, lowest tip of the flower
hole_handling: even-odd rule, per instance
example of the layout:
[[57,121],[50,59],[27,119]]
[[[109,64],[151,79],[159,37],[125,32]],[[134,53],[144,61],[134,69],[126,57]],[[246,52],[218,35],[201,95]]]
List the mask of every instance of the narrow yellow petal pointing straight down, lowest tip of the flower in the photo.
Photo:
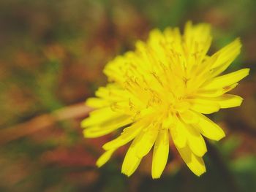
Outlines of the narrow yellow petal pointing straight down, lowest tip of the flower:
[[153,160],[152,160],[152,177],[157,179],[161,176],[165,165],[167,163],[167,158],[169,154],[169,135],[167,129],[162,129],[159,131],[156,143],[154,145]]

